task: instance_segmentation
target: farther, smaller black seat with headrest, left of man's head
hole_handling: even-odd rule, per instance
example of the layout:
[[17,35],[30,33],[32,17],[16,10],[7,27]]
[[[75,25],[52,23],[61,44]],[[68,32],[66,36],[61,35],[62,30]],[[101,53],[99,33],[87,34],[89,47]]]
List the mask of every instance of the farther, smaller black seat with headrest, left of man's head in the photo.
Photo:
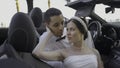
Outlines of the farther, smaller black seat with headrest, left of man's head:
[[29,16],[31,17],[34,26],[36,27],[37,33],[41,35],[44,31],[46,31],[45,26],[43,24],[43,13],[42,10],[38,7],[33,8]]

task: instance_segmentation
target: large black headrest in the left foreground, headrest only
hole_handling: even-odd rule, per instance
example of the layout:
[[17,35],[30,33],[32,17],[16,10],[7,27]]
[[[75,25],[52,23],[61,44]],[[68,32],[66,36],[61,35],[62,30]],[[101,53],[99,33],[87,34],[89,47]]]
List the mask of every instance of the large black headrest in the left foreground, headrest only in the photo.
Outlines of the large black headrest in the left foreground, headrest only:
[[22,12],[16,13],[10,22],[8,43],[17,51],[32,52],[36,40],[35,27],[30,17]]

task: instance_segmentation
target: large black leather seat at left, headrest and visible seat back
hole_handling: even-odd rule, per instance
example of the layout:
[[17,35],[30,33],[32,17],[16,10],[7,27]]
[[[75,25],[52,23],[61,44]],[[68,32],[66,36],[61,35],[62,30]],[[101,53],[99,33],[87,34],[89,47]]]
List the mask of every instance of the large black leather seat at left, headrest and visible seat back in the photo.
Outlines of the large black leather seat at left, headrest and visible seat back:
[[8,30],[8,44],[11,44],[19,57],[32,68],[52,68],[47,63],[32,56],[36,45],[35,27],[31,18],[22,12],[16,13]]

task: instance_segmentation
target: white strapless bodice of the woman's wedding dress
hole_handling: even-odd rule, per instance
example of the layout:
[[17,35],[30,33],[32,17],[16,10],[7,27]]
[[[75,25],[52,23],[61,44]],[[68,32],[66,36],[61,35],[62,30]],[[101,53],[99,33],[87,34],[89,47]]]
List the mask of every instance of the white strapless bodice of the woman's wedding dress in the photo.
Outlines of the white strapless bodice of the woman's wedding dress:
[[64,60],[65,68],[98,68],[95,55],[69,56]]

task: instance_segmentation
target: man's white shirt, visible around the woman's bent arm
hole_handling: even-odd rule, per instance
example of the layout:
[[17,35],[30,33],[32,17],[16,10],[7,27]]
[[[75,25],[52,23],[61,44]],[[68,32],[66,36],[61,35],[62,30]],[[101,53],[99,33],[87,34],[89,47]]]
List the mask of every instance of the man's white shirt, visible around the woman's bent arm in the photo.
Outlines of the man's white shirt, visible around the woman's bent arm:
[[[44,32],[40,38],[39,38],[39,42],[42,42],[42,40],[44,38],[46,38],[46,35],[47,35],[48,32]],[[64,32],[63,32],[63,36],[66,35],[66,29],[64,29]],[[46,45],[46,48],[45,50],[47,51],[52,51],[52,50],[58,50],[58,49],[62,49],[62,48],[66,48],[66,47],[69,47],[69,43],[67,41],[67,39],[64,39],[64,40],[61,40],[61,41],[58,41],[56,42],[56,39],[58,39],[58,37],[56,36],[52,36],[47,45]],[[45,61],[46,63],[48,63],[49,65],[53,66],[54,68],[64,68],[64,65],[62,62],[60,61]]]

